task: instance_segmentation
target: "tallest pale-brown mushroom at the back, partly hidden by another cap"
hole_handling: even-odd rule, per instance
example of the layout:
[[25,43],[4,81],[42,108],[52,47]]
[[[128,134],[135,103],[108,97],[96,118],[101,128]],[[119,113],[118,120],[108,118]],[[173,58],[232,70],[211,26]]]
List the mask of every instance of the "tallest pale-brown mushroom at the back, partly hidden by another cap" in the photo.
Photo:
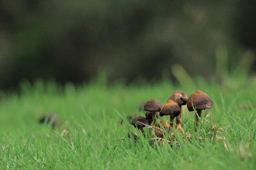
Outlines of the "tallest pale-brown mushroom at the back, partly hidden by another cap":
[[[188,97],[186,96],[186,93],[183,91],[175,91],[168,100],[172,100],[176,102],[180,107],[180,114],[176,117],[176,128],[181,127],[182,122],[182,109],[181,106],[186,105],[186,102],[188,100]],[[168,101],[167,100],[167,101]]]

